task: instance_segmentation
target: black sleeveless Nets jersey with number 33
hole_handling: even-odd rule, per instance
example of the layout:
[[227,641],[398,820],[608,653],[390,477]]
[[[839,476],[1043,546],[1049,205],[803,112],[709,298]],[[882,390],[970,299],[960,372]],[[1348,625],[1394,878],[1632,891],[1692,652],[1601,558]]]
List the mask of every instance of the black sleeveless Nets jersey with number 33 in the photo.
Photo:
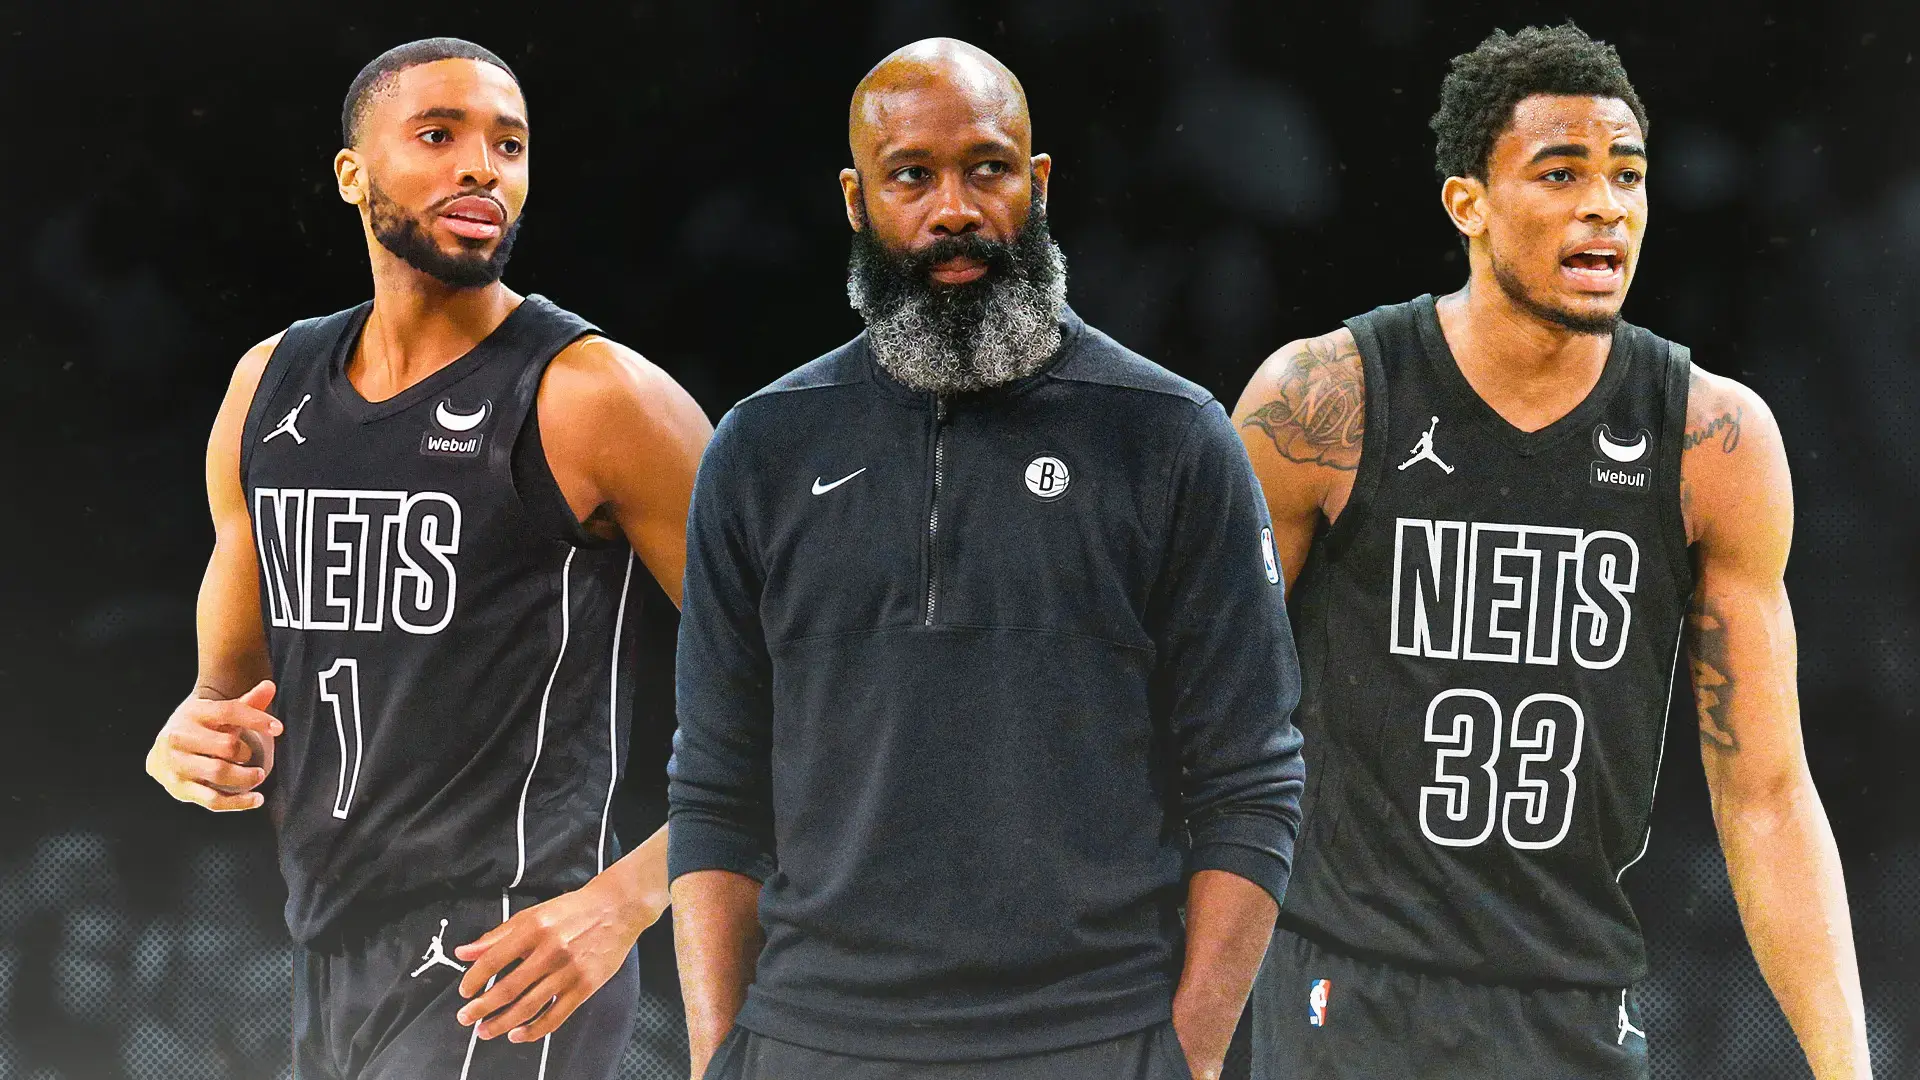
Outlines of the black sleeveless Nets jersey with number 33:
[[1613,334],[1599,382],[1523,432],[1434,300],[1348,321],[1354,494],[1288,598],[1308,796],[1283,924],[1467,978],[1624,986],[1692,563],[1688,352]]

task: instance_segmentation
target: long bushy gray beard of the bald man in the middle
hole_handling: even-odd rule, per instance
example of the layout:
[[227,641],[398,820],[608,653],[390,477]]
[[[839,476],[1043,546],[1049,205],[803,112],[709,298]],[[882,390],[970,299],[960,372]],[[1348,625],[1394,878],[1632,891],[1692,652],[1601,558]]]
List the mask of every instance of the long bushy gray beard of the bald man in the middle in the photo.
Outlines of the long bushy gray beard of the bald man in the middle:
[[1068,304],[1068,259],[1046,240],[1048,281],[998,275],[966,331],[939,317],[939,298],[916,292],[891,311],[876,311],[858,277],[847,300],[866,319],[874,359],[900,384],[931,394],[1004,386],[1046,367],[1060,350],[1060,311]]

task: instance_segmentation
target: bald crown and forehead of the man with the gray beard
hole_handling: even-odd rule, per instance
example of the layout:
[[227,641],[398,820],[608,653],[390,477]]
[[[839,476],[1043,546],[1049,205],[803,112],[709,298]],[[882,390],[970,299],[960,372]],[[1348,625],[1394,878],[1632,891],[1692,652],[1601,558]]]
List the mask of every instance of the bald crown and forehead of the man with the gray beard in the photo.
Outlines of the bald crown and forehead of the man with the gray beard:
[[1021,152],[1033,146],[1027,90],[1020,79],[983,48],[958,38],[925,38],[893,50],[854,86],[847,108],[847,146],[854,161],[876,138],[885,142],[887,129],[902,119],[895,98],[916,90],[954,94],[973,115],[1004,129]]

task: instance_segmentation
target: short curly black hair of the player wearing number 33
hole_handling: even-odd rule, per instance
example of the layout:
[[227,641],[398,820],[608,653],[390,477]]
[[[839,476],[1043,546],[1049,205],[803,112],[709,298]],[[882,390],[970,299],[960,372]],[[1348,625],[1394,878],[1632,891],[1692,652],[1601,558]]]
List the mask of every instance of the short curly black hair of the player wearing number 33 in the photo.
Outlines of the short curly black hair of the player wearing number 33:
[[1428,121],[1440,136],[1434,144],[1440,179],[1484,181],[1494,140],[1513,123],[1513,106],[1532,94],[1620,98],[1634,110],[1640,133],[1647,131],[1647,110],[1611,44],[1586,37],[1571,19],[1517,35],[1494,31],[1473,52],[1455,56],[1440,85],[1440,111]]

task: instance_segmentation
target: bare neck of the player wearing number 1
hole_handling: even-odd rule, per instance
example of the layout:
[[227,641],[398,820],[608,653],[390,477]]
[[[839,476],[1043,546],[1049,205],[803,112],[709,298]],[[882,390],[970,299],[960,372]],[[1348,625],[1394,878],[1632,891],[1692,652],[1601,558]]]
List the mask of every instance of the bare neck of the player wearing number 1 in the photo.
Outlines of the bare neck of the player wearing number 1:
[[520,306],[501,282],[449,288],[397,265],[376,265],[372,313],[348,357],[348,380],[369,402],[384,402],[467,356]]

